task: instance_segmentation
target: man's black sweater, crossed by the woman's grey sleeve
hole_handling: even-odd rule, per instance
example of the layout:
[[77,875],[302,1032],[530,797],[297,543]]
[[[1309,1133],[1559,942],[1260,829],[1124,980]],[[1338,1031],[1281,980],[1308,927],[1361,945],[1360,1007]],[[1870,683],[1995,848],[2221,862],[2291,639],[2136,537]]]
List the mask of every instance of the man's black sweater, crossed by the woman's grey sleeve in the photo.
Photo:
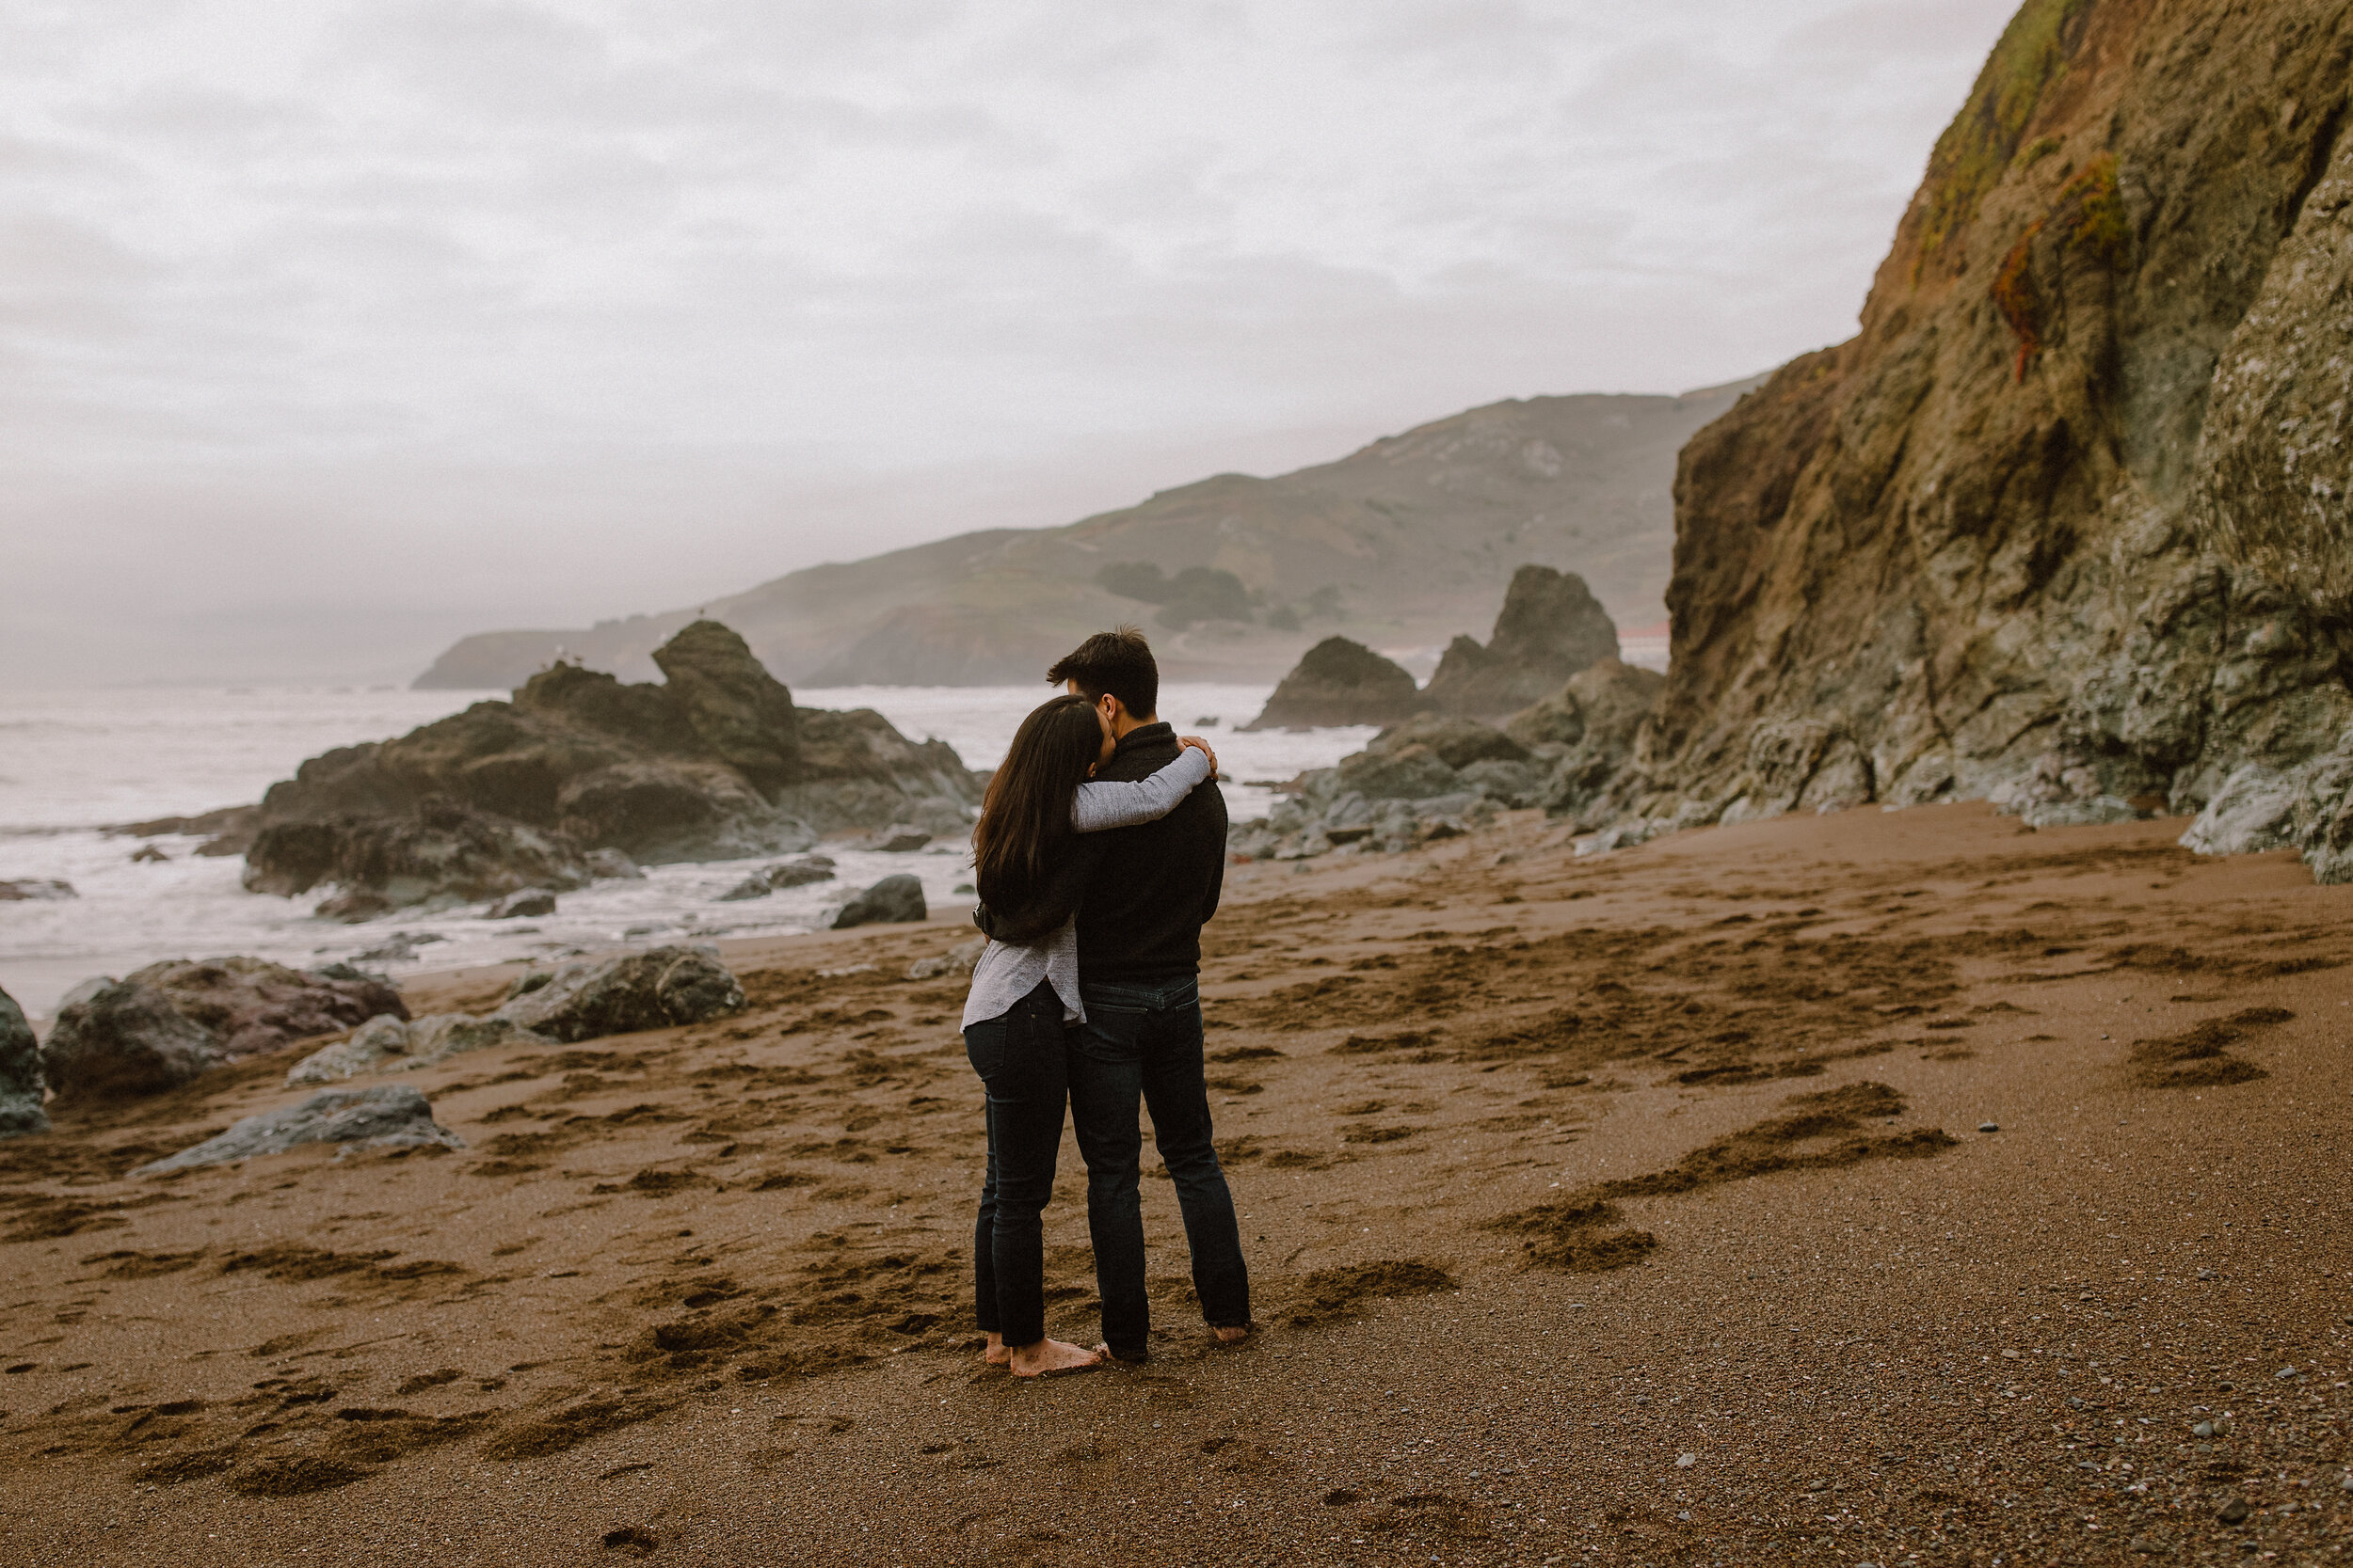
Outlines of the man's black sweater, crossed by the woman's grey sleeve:
[[[1176,759],[1176,731],[1120,736],[1096,778],[1151,778]],[[1200,929],[1226,889],[1226,797],[1202,785],[1158,823],[1087,835],[1101,849],[1078,905],[1080,980],[1167,980],[1200,973]]]

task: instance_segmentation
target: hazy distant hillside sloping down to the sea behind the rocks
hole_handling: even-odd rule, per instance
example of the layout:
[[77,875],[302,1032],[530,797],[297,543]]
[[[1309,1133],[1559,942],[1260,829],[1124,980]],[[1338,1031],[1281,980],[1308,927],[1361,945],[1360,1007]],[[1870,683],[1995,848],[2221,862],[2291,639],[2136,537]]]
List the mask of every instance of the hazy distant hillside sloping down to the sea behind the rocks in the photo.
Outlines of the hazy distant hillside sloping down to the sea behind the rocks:
[[[1741,383],[1746,386],[1746,383]],[[1468,409],[1315,468],[1214,475],[1059,529],[962,534],[812,567],[711,604],[800,684],[1028,682],[1082,637],[1153,621],[1169,679],[1273,679],[1329,635],[1438,646],[1487,616],[1513,567],[1574,569],[1631,625],[1664,616],[1675,449],[1739,388],[1529,397]],[[1212,574],[1240,599],[1172,625],[1120,574]],[[558,649],[624,677],[692,614],[482,632],[419,686],[520,686]]]

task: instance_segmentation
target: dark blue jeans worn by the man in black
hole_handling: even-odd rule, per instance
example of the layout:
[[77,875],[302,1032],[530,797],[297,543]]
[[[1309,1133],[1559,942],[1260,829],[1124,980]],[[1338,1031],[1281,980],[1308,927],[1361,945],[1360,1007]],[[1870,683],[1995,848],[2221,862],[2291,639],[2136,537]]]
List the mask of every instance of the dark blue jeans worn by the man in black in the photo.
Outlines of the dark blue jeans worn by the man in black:
[[1193,976],[1082,985],[1087,1023],[1073,1037],[1071,1119],[1087,1159],[1087,1229],[1104,1340],[1122,1361],[1148,1352],[1144,1295],[1144,1201],[1136,1173],[1144,1133],[1136,1100],[1153,1112],[1153,1145],[1176,1185],[1193,1291],[1212,1328],[1249,1326],[1249,1269],[1233,1222],[1233,1194],[1209,1143],[1209,1088],[1200,1060],[1200,990]]

